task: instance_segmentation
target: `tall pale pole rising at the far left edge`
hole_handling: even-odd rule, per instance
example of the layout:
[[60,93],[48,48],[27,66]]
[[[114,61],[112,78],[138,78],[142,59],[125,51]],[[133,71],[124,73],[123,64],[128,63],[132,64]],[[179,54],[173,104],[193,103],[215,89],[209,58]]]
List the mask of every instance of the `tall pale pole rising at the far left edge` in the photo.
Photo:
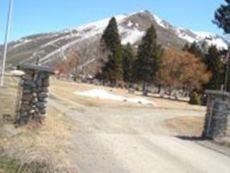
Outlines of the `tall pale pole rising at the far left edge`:
[[3,52],[3,59],[2,59],[2,69],[1,69],[1,76],[0,76],[0,86],[4,85],[4,74],[6,68],[6,56],[7,56],[7,48],[8,48],[8,37],[11,27],[11,18],[12,18],[12,11],[13,11],[13,3],[14,0],[9,0],[9,11],[7,16],[7,23],[6,23],[6,33],[5,33],[5,44],[4,44],[4,52]]

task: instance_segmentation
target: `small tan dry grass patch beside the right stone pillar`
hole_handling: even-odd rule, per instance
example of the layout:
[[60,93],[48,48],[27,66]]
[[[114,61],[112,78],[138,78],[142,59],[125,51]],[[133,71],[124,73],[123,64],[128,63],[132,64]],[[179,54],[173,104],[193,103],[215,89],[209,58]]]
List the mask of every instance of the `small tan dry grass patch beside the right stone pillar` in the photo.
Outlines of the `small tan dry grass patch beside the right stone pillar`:
[[203,130],[204,118],[192,116],[177,117],[166,120],[165,125],[179,135],[200,136]]

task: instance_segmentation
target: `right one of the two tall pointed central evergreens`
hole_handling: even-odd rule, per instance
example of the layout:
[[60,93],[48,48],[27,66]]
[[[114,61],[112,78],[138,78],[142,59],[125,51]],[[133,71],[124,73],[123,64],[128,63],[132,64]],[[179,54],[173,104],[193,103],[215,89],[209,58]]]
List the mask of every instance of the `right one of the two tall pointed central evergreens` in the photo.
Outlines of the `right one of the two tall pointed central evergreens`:
[[154,82],[161,67],[162,48],[157,44],[157,34],[152,25],[142,39],[135,62],[135,78],[143,84],[143,94],[147,95],[146,84]]

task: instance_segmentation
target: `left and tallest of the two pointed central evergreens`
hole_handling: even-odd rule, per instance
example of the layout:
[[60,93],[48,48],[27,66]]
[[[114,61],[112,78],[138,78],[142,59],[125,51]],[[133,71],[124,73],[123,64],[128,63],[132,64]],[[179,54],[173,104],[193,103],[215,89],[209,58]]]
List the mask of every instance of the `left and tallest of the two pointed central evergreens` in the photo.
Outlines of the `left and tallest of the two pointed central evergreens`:
[[122,80],[121,40],[116,19],[113,17],[105,29],[101,43],[105,52],[108,52],[107,62],[102,67],[100,74],[104,81],[116,84]]

